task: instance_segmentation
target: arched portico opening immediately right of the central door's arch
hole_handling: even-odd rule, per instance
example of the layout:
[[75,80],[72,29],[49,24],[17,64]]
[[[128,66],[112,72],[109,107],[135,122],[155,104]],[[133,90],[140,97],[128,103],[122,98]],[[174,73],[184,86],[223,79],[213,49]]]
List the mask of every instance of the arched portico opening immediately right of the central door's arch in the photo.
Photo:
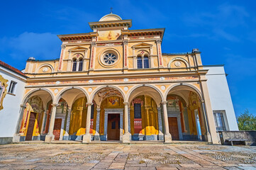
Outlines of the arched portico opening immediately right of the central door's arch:
[[139,86],[129,96],[132,140],[163,140],[160,91]]

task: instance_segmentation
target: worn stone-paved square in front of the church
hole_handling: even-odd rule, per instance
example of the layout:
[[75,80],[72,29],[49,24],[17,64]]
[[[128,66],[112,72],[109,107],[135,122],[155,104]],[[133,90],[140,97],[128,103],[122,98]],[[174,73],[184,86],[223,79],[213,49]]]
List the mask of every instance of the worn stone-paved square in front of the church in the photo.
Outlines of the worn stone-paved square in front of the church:
[[0,145],[0,169],[256,169],[256,147],[121,143]]

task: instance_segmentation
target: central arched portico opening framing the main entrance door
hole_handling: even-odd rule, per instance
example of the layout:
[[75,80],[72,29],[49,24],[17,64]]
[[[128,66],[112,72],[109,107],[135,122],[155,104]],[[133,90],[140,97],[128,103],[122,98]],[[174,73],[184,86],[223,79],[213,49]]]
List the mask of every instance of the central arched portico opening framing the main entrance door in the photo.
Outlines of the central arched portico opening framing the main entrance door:
[[[96,134],[94,140],[122,140],[123,138],[123,94],[115,87],[104,87],[94,95]],[[96,113],[96,114],[95,114]]]

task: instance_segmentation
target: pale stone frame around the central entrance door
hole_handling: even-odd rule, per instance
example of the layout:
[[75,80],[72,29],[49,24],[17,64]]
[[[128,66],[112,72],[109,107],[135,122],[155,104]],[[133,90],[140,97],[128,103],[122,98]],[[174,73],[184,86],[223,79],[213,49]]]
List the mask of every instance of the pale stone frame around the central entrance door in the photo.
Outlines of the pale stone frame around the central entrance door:
[[104,108],[104,135],[108,140],[108,114],[120,114],[120,139],[123,140],[123,108]]

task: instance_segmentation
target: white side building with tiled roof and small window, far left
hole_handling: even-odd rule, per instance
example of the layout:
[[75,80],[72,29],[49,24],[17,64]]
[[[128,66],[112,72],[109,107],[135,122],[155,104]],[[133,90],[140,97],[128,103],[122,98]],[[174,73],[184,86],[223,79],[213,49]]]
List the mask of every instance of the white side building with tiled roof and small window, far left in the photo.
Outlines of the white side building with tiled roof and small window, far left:
[[26,85],[26,75],[0,61],[0,144],[11,143]]

